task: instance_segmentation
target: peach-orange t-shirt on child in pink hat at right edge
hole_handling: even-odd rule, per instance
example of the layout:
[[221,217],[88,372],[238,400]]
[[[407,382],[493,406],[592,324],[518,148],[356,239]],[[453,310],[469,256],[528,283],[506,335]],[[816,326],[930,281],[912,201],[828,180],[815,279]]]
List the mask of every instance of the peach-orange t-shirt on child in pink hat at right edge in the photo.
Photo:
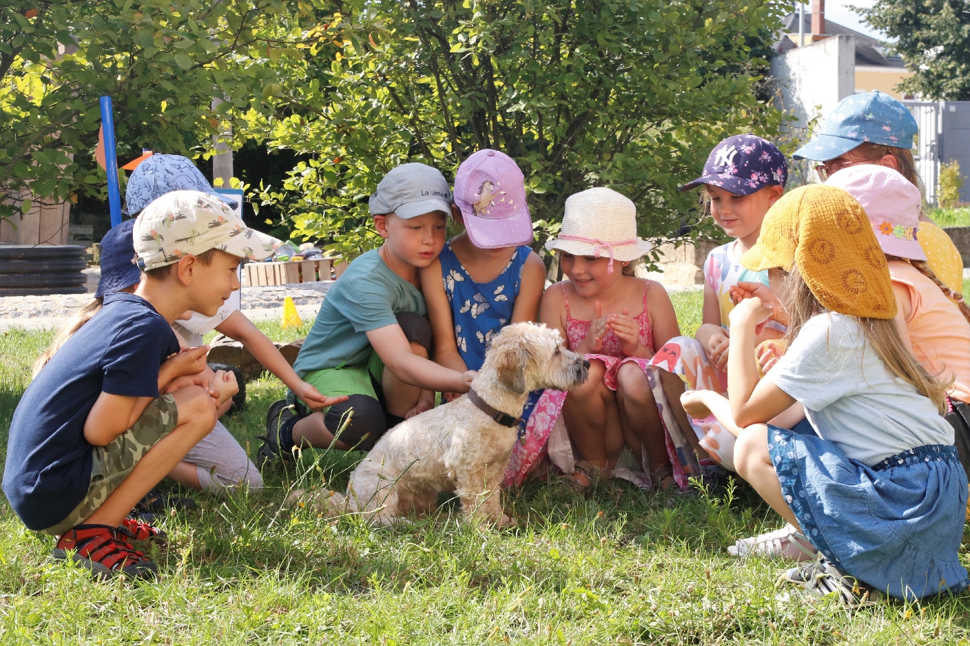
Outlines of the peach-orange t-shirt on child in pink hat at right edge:
[[906,319],[913,355],[930,374],[953,376],[950,396],[970,404],[970,323],[936,283],[909,263],[891,261],[889,276],[907,287],[913,303]]

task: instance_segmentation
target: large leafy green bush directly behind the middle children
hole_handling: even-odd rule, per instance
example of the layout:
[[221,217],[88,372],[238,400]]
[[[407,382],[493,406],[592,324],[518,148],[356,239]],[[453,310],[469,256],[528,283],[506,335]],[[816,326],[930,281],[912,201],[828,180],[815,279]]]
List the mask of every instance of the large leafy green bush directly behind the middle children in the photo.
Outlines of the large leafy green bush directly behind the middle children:
[[367,197],[394,166],[453,177],[482,147],[526,175],[537,241],[566,197],[628,195],[645,236],[671,237],[696,196],[677,186],[719,139],[777,132],[753,57],[786,9],[770,0],[347,0],[331,55],[307,58],[245,134],[314,158],[263,187],[295,237],[360,252],[379,242]]

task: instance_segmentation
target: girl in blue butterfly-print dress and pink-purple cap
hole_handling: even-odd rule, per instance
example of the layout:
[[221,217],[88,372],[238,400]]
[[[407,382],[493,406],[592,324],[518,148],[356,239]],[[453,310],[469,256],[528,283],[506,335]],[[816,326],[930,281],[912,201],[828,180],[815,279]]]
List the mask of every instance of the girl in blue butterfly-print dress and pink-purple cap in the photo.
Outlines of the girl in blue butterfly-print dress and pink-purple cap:
[[[508,155],[490,149],[471,155],[458,169],[454,195],[465,231],[446,242],[437,260],[422,270],[421,289],[436,363],[477,371],[501,328],[538,317],[545,266],[528,246],[533,222],[524,177]],[[444,397],[450,401],[453,396]],[[534,394],[526,404],[522,434],[537,399]],[[506,484],[520,483],[541,458],[544,442],[524,439],[513,449]]]

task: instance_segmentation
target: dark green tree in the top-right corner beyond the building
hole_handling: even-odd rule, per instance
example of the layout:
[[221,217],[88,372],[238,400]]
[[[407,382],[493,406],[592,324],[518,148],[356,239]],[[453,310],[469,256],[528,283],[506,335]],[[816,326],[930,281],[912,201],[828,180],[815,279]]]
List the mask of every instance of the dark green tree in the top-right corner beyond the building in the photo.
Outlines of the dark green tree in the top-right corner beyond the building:
[[970,101],[970,3],[880,0],[857,11],[891,39],[913,73],[899,89],[933,101]]

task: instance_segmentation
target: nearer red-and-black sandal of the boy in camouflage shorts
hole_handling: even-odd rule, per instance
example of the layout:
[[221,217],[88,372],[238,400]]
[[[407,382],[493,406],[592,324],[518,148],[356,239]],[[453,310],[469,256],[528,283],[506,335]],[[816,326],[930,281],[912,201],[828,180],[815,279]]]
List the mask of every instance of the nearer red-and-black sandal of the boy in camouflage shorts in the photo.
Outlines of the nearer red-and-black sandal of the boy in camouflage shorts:
[[69,556],[102,579],[118,574],[141,578],[158,575],[158,565],[122,540],[118,528],[107,525],[79,525],[62,534],[57,539],[53,557],[63,561]]

